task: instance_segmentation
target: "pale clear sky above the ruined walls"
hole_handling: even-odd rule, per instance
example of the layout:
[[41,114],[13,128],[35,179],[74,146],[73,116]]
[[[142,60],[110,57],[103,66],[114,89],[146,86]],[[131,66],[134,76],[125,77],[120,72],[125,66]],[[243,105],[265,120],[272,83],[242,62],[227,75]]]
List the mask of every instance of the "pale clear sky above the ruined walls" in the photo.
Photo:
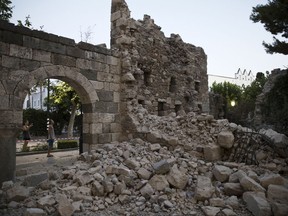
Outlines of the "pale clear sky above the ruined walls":
[[[150,15],[166,37],[179,34],[184,42],[202,47],[207,73],[234,77],[241,71],[271,71],[288,67],[288,56],[267,54],[262,42],[273,35],[250,20],[252,7],[268,0],[126,0],[135,20]],[[92,44],[110,47],[111,0],[12,0],[12,23],[27,15],[34,29],[74,39],[92,32]]]

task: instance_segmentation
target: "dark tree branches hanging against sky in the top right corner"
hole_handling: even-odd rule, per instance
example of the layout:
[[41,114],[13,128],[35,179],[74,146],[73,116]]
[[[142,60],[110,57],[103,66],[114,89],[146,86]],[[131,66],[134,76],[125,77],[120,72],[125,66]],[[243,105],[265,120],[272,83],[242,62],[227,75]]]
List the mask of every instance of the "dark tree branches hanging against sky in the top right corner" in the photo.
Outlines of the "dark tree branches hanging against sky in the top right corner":
[[[257,5],[253,7],[250,19],[253,22],[261,22],[267,31],[273,35],[280,35],[288,38],[288,1],[287,0],[269,0],[266,5]],[[288,54],[288,43],[285,40],[279,40],[273,36],[274,42],[268,44],[263,42],[266,52]]]

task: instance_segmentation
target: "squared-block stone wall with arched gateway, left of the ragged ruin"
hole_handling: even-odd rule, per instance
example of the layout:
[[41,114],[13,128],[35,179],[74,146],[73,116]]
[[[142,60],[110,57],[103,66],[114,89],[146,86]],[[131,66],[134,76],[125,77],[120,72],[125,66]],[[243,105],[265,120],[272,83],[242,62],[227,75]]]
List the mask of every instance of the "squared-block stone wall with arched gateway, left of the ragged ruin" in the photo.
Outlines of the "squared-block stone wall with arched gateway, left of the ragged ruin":
[[23,102],[44,79],[65,81],[80,96],[84,151],[119,140],[120,68],[110,50],[6,22],[0,39],[0,184],[15,178]]

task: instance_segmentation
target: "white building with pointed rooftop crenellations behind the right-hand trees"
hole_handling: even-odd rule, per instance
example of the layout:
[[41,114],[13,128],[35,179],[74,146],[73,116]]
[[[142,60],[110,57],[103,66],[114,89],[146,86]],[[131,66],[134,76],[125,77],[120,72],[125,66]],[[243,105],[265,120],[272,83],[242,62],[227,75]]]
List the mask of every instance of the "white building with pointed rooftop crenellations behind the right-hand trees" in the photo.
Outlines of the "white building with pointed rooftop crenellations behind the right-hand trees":
[[242,72],[240,68],[234,74],[234,77],[208,74],[208,86],[209,86],[209,88],[212,86],[213,82],[223,83],[226,81],[226,82],[236,84],[238,86],[242,86],[242,85],[248,86],[254,80],[255,80],[255,76],[253,75],[251,70],[246,71],[246,69],[245,69]]

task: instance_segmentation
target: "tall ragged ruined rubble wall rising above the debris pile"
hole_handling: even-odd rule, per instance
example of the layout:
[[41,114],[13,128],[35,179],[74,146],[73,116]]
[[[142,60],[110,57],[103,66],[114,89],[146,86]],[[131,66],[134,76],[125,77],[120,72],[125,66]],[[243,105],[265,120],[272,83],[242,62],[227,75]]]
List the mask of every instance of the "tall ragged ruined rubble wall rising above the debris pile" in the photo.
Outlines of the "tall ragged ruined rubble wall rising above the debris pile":
[[165,37],[150,16],[130,17],[124,0],[112,2],[111,48],[122,58],[122,100],[149,113],[208,112],[207,56],[177,34]]

